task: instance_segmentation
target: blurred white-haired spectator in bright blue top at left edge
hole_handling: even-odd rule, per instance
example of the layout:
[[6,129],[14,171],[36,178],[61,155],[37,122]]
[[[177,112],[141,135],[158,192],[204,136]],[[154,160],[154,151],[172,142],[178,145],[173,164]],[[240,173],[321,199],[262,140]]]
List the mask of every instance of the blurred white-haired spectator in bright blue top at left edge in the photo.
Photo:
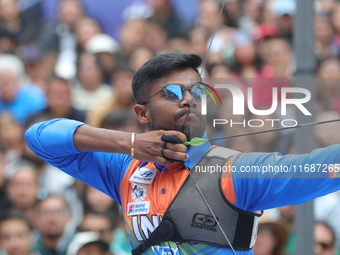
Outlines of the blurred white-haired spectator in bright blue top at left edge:
[[10,112],[20,124],[46,105],[43,91],[35,85],[23,85],[23,76],[19,58],[0,56],[0,112]]

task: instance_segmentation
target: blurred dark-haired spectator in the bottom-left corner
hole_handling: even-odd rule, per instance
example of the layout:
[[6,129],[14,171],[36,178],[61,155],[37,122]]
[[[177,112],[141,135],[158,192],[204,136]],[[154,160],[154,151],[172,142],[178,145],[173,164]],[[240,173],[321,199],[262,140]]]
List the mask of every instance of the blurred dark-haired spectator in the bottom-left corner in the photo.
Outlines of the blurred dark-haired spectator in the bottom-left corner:
[[0,215],[0,247],[6,255],[41,255],[32,251],[31,224],[25,215],[2,211]]

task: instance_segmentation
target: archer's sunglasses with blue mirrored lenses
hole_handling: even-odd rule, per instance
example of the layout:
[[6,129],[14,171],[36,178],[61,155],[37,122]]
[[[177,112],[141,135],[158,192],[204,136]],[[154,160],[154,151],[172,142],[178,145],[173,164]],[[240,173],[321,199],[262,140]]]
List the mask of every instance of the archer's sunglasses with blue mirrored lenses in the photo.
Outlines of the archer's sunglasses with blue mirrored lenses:
[[180,102],[183,100],[186,90],[189,90],[191,96],[198,102],[201,102],[201,95],[210,93],[210,89],[207,86],[199,83],[196,83],[191,88],[184,88],[182,85],[179,84],[170,84],[158,90],[155,94],[150,96],[146,101],[141,104],[146,104],[151,98],[162,91],[164,91],[165,96],[171,102]]

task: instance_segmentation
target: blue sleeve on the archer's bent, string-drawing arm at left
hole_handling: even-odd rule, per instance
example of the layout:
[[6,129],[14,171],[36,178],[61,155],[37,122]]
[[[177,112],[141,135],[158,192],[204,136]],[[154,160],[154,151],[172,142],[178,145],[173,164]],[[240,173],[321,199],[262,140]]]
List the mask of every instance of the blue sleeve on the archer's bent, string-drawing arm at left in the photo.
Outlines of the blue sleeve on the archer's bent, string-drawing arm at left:
[[51,165],[106,193],[119,204],[120,181],[131,163],[128,155],[79,152],[73,144],[82,122],[53,119],[33,125],[25,133],[29,148]]

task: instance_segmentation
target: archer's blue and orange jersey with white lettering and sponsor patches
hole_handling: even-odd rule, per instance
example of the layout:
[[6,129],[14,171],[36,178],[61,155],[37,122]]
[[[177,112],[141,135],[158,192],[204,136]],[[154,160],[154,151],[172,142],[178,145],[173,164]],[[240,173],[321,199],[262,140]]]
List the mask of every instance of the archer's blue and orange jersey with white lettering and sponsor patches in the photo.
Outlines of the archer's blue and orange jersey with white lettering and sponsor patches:
[[[130,242],[136,247],[157,227],[186,179],[187,171],[182,171],[183,164],[180,163],[163,168],[124,154],[79,152],[74,146],[73,134],[83,124],[66,119],[38,123],[26,132],[26,141],[48,163],[116,200],[124,211]],[[193,168],[208,148],[209,145],[192,147],[186,165]],[[245,153],[234,159],[230,169],[222,169],[232,174],[232,178],[222,178],[222,189],[230,202],[249,212],[304,203],[340,188],[340,179],[328,175],[329,170],[337,171],[339,162],[340,145],[301,155]],[[142,173],[145,176],[147,173],[149,179],[143,179]],[[167,252],[233,254],[227,248],[172,242],[153,246],[145,254]],[[237,254],[253,252],[237,251]]]

